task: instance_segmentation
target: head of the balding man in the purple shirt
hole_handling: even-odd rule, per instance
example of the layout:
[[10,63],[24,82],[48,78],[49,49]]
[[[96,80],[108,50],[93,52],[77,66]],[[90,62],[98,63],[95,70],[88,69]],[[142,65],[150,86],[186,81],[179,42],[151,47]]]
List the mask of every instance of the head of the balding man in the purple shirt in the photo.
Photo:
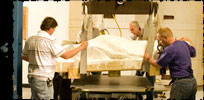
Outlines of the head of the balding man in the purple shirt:
[[175,40],[173,33],[169,28],[160,28],[157,34],[157,39],[164,47],[169,46]]

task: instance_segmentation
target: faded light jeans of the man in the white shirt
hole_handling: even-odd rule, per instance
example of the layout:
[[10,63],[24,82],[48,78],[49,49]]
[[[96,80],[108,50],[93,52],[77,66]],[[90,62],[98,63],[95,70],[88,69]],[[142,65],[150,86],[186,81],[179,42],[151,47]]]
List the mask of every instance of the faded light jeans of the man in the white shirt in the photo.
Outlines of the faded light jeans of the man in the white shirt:
[[53,99],[53,86],[49,87],[47,81],[42,81],[37,77],[28,77],[28,82],[31,87],[31,99]]

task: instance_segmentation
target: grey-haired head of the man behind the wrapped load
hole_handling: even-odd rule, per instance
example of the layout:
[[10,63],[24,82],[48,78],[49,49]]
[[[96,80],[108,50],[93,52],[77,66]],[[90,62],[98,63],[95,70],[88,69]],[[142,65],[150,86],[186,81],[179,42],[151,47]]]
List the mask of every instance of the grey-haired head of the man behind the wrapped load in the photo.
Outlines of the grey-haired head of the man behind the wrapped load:
[[129,29],[135,36],[139,37],[141,35],[141,28],[137,21],[131,21],[129,24]]

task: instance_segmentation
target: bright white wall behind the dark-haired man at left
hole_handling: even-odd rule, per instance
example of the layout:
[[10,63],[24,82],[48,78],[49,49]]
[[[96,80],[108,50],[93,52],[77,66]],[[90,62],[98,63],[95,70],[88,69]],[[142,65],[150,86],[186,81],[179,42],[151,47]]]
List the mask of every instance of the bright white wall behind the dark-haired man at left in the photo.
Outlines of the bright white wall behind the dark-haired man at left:
[[[56,19],[58,26],[53,36],[60,43],[68,40],[69,35],[69,2],[61,1],[24,1],[23,6],[28,7],[28,37],[36,34],[40,30],[40,24],[46,16]],[[24,46],[25,41],[23,41]],[[23,84],[28,83],[27,72],[28,63],[23,61]]]

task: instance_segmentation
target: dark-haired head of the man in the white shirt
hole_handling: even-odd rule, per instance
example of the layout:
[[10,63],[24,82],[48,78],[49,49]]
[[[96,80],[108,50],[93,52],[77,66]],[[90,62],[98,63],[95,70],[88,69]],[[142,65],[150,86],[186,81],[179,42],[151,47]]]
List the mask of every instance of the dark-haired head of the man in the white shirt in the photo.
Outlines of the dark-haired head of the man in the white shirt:
[[48,32],[50,35],[53,34],[53,32],[55,31],[55,28],[57,27],[57,21],[52,18],[52,17],[46,17],[41,25],[40,25],[40,29],[43,31]]

